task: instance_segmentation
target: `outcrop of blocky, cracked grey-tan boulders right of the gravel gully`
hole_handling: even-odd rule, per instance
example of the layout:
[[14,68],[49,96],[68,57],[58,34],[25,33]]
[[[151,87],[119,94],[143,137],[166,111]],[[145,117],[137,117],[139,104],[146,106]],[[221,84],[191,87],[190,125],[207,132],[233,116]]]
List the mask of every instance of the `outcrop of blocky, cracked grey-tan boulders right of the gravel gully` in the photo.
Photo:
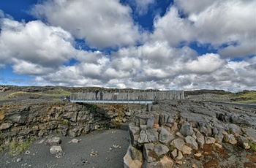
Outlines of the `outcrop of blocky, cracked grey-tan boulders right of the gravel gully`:
[[[256,142],[255,110],[190,101],[158,102],[151,109],[137,115],[135,123],[129,123],[131,146],[143,153],[143,168],[178,167],[186,164],[186,158],[207,156],[208,153],[202,151],[206,148],[214,146],[223,150],[225,144],[234,148],[238,144],[249,150],[249,143]],[[233,120],[234,115],[239,119]],[[238,120],[243,124],[238,124]],[[221,160],[214,161],[214,167],[218,167]],[[195,159],[195,164],[188,167],[203,167],[206,162]],[[245,161],[239,164],[230,161],[229,166],[244,167],[245,164]]]

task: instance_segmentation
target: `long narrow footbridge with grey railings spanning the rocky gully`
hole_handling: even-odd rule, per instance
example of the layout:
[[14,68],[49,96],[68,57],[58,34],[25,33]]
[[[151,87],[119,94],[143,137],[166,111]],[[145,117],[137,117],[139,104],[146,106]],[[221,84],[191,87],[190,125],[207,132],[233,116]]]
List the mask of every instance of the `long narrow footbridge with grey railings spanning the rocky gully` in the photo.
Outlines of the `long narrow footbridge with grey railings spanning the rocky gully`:
[[159,100],[185,99],[184,91],[103,92],[80,91],[72,93],[70,102],[110,104],[152,104]]

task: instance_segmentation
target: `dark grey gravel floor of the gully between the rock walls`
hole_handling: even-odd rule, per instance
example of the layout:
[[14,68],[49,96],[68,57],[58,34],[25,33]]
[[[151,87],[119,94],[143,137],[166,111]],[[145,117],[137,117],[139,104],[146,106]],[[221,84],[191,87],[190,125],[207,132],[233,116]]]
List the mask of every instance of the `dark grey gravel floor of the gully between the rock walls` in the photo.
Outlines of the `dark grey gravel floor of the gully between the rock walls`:
[[[54,135],[50,137],[52,136]],[[78,143],[69,143],[72,139],[74,138],[61,137],[61,148],[64,151],[61,155],[50,154],[50,145],[45,145],[48,138],[33,142],[27,152],[29,154],[24,152],[19,156],[10,156],[1,152],[0,167],[124,167],[123,157],[129,145],[127,130],[94,131],[76,137],[80,140]],[[45,141],[39,143],[42,140]],[[91,153],[94,156],[90,156]],[[17,162],[20,158],[22,160]]]

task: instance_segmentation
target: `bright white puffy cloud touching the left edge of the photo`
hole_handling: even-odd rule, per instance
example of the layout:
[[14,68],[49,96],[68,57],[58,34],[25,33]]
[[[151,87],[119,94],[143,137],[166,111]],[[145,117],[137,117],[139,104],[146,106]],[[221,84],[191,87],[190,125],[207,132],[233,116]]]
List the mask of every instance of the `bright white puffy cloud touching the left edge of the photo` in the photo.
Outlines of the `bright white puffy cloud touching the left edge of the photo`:
[[20,23],[1,19],[0,61],[14,64],[19,74],[39,75],[69,61],[75,49],[72,36],[62,28],[39,20]]

